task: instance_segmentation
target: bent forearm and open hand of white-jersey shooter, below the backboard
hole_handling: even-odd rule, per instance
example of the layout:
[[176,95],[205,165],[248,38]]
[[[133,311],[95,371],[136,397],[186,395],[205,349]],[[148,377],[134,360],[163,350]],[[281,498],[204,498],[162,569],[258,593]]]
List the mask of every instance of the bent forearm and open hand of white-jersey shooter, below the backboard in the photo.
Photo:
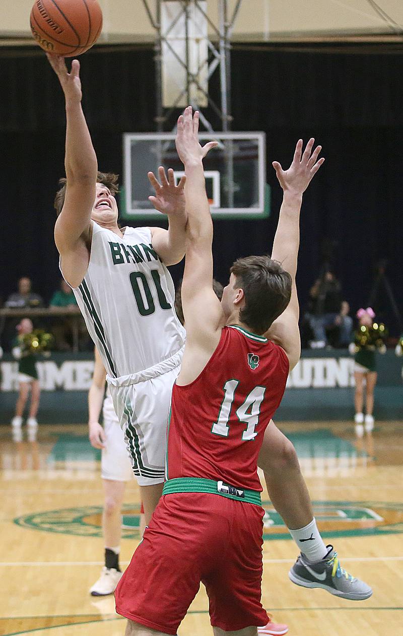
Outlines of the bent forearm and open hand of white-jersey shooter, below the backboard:
[[[168,170],[168,177],[162,166],[158,168],[160,181],[153,172],[148,178],[155,190],[154,197],[148,197],[154,208],[168,217],[168,230],[150,228],[152,244],[158,256],[165,265],[179,263],[185,254],[186,245],[186,214],[185,207],[185,177],[175,186],[174,170]],[[160,183],[161,182],[161,183]]]

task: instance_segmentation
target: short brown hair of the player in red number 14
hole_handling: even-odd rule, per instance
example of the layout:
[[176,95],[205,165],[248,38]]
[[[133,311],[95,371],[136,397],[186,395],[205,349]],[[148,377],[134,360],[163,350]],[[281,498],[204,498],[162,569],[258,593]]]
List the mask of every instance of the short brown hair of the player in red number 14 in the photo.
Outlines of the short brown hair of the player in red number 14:
[[265,333],[289,304],[290,274],[270,256],[238,258],[231,267],[231,273],[236,277],[236,286],[245,294],[240,321],[257,335]]

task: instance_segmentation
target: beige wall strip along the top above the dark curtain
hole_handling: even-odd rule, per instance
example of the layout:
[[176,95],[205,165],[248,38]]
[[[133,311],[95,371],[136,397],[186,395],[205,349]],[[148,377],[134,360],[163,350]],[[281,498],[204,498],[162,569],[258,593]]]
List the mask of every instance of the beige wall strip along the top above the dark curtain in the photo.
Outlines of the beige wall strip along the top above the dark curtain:
[[[151,42],[154,31],[142,0],[99,0],[104,12],[100,42]],[[236,0],[229,0],[234,7]],[[154,9],[155,0],[149,0]],[[29,38],[32,0],[1,0],[0,38]],[[217,1],[208,1],[217,20]],[[329,36],[402,37],[403,0],[242,0],[234,41],[295,41]],[[403,38],[402,38],[403,41]]]

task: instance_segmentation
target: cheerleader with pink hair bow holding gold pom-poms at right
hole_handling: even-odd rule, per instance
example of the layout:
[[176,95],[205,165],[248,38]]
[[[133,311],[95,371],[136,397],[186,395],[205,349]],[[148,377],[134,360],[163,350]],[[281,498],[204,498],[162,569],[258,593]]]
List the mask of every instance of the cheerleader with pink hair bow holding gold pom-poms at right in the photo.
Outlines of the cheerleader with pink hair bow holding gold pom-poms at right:
[[[370,433],[374,428],[374,388],[378,373],[376,372],[376,352],[385,353],[386,330],[383,324],[374,322],[375,313],[371,307],[357,312],[359,328],[355,331],[355,340],[350,345],[350,353],[354,354],[355,378],[355,432],[358,437],[365,431]],[[364,379],[366,408],[364,417]]]

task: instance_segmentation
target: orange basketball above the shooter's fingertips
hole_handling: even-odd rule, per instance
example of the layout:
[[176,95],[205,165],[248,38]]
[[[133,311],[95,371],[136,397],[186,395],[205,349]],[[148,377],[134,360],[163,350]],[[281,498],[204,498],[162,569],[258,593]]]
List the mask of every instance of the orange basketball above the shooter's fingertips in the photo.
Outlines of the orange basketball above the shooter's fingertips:
[[36,0],[31,31],[47,53],[76,57],[91,48],[102,29],[97,0]]

